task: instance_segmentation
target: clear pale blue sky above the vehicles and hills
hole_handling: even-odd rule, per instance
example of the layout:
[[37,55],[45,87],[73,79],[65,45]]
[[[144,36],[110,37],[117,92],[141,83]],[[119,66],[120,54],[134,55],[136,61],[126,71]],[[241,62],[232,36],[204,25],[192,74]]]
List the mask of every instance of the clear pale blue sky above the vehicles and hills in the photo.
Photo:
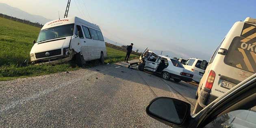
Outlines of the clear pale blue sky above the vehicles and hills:
[[[0,0],[34,15],[63,17],[67,0]],[[256,18],[256,0],[71,0],[69,17],[100,26],[108,39],[209,60],[237,21]],[[178,56],[180,57],[180,56]]]

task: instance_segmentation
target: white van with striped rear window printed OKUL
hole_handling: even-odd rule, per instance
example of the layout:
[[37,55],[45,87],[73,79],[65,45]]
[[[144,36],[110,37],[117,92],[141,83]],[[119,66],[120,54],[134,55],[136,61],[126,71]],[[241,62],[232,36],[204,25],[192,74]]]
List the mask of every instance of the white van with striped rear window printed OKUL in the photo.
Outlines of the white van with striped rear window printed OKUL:
[[[203,61],[201,67],[206,66]],[[236,22],[213,53],[196,96],[193,113],[226,93],[256,71],[256,19]]]

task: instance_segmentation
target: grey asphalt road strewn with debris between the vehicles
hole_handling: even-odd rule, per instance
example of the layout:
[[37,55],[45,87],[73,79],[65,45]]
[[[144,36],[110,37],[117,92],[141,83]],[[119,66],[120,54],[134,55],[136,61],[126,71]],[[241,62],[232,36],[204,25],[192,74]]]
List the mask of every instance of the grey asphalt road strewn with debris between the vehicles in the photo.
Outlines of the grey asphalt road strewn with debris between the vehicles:
[[168,128],[145,113],[148,103],[165,96],[193,110],[196,90],[124,63],[0,81],[0,127]]

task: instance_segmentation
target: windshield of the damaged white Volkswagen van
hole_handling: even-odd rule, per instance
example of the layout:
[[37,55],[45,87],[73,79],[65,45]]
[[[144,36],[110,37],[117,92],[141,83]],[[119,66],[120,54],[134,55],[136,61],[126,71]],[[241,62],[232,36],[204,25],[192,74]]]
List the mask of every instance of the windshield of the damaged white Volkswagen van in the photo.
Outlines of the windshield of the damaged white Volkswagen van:
[[40,31],[37,43],[41,41],[47,41],[50,39],[72,36],[73,33],[74,24],[66,24],[62,26],[46,28]]

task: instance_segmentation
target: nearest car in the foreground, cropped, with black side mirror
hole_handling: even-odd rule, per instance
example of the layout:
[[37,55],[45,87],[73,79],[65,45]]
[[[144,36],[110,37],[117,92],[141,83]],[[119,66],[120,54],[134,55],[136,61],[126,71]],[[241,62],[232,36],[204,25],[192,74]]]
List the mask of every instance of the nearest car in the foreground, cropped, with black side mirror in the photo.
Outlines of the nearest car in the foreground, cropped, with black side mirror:
[[191,115],[191,105],[174,98],[152,100],[146,113],[172,128],[256,128],[256,74]]

